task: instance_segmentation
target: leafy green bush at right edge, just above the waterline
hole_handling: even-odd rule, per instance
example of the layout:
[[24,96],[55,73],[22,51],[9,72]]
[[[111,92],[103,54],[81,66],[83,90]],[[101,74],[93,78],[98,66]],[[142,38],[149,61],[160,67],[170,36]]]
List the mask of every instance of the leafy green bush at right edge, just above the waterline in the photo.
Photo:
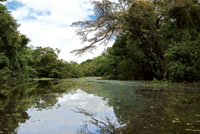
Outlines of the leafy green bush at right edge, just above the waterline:
[[172,41],[165,52],[168,77],[172,80],[199,80],[200,35],[184,31],[179,38],[180,42]]

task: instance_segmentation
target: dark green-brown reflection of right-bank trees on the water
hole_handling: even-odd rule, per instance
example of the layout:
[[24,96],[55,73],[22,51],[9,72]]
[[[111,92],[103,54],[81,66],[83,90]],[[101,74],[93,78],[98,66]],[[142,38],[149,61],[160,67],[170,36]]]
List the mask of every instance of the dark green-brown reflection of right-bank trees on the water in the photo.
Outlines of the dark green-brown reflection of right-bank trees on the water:
[[[123,83],[123,82],[122,82]],[[102,96],[113,106],[118,121],[134,133],[200,133],[200,92],[152,88],[128,82],[93,82],[80,88]]]

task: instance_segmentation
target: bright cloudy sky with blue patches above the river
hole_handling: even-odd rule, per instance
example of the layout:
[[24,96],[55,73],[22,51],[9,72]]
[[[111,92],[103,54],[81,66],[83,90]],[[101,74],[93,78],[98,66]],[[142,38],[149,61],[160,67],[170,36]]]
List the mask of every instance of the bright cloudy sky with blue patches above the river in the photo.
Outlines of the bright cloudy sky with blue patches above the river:
[[75,33],[77,27],[71,27],[71,24],[94,18],[90,0],[7,0],[5,5],[20,24],[18,30],[31,40],[29,46],[58,48],[60,59],[81,63],[112,46],[112,42],[99,46],[81,57],[70,53],[88,45],[82,43]]

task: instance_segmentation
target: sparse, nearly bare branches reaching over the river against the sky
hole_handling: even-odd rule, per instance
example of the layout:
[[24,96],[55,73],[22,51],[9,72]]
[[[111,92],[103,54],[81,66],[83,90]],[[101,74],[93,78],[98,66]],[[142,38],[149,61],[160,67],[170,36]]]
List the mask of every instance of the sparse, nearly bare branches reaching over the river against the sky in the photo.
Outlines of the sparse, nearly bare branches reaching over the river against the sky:
[[[98,42],[108,43],[113,36],[122,32],[123,23],[121,22],[121,16],[128,5],[128,1],[119,0],[119,3],[110,2],[109,0],[93,1],[94,5],[94,17],[95,20],[91,21],[78,21],[74,22],[73,26],[80,26],[81,28],[77,31],[77,35],[81,36],[83,42],[90,42],[90,45],[74,50],[77,54],[83,53],[87,50],[95,48],[95,44]],[[90,34],[93,37],[88,38]]]

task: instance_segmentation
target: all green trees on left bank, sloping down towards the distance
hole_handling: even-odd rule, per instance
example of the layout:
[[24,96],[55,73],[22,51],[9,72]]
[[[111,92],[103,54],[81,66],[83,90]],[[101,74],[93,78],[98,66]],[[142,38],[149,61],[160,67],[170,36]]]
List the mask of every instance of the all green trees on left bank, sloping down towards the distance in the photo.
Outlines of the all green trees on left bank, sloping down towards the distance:
[[60,50],[27,46],[29,39],[18,31],[18,24],[0,4],[0,80],[27,78],[72,78],[82,74],[77,63],[58,59]]

